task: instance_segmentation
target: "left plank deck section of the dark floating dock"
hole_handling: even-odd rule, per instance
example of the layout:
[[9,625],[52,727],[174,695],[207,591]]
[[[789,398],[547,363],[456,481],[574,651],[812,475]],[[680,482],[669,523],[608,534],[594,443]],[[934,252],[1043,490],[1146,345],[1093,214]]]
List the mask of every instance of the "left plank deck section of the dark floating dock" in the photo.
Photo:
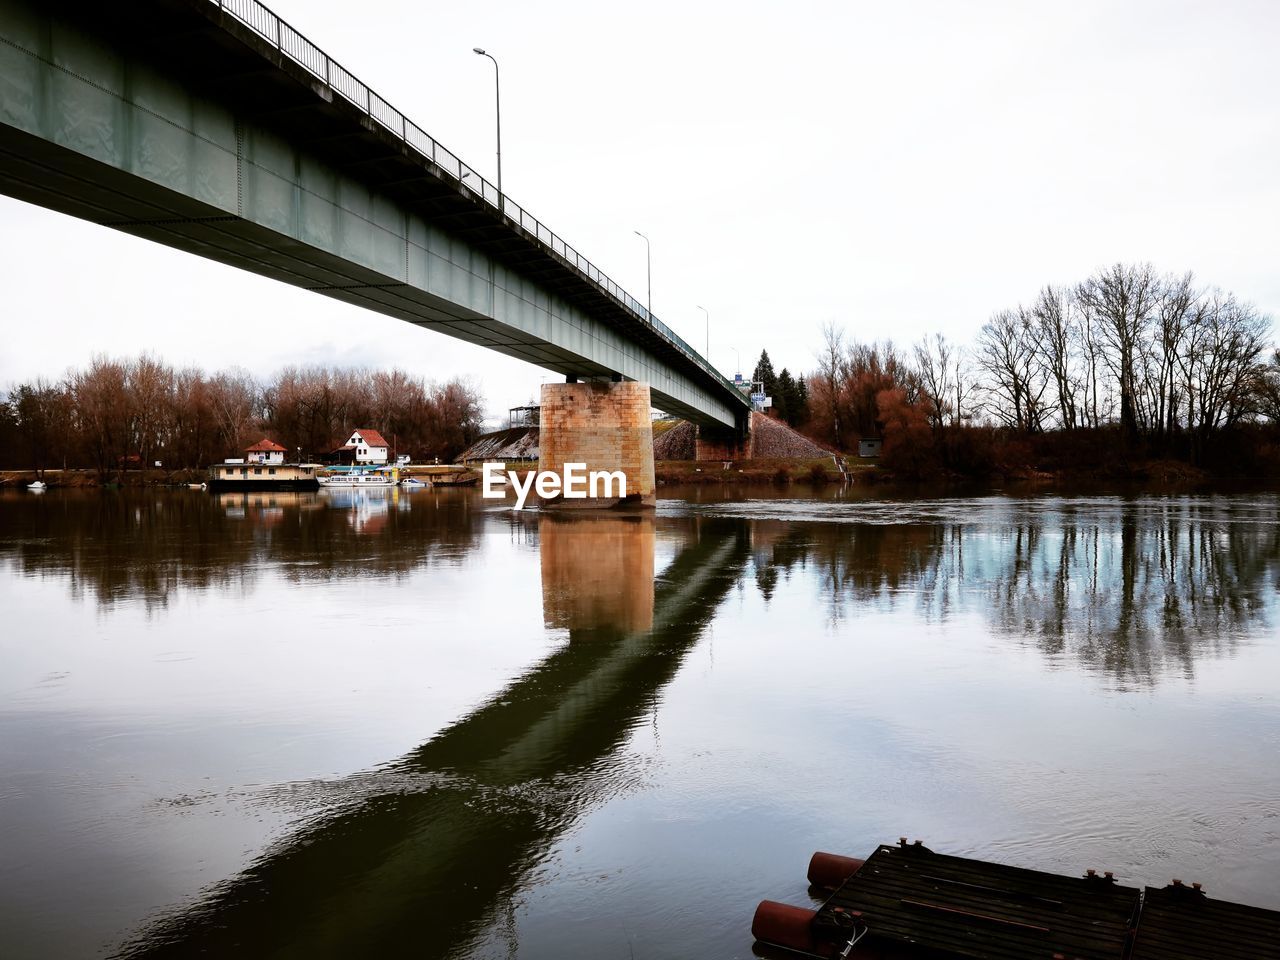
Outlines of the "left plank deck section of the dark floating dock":
[[860,914],[868,936],[855,957],[899,947],[913,957],[1119,960],[1139,900],[1137,888],[1101,876],[881,846],[822,906],[814,928],[835,937],[840,914]]

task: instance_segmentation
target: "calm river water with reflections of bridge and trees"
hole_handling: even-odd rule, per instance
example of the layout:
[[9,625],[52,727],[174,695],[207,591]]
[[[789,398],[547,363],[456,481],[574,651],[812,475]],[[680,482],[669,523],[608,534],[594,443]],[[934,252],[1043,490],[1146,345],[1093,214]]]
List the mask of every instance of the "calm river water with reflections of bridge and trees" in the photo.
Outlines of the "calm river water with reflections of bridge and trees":
[[0,497],[0,954],[748,957],[817,849],[1280,908],[1280,497]]

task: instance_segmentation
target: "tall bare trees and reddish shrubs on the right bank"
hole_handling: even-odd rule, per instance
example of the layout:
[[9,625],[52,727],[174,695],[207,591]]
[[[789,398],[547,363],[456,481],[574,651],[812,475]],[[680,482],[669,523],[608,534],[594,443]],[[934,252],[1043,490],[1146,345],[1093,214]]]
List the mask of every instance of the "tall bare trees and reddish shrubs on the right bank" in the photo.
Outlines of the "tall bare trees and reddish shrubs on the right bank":
[[1270,338],[1270,317],[1233,293],[1115,264],[997,311],[969,347],[863,343],[828,324],[805,429],[840,449],[883,436],[887,458],[919,470],[963,460],[965,430],[1107,434],[1125,453],[1203,463],[1215,439],[1280,422]]

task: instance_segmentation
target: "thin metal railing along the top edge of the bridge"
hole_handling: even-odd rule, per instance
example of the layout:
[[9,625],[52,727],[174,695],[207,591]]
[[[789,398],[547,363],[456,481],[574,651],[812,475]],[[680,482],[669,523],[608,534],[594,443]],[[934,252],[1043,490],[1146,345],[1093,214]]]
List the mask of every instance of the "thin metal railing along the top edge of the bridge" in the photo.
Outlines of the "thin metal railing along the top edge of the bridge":
[[399,137],[413,152],[435,164],[445,175],[457,180],[462,189],[480,197],[485,204],[497,210],[508,224],[520,227],[525,233],[536,238],[554,256],[598,285],[640,320],[649,324],[701,370],[719,380],[735,394],[739,393],[728,378],[713,367],[710,361],[690,347],[675,330],[658,320],[658,317],[650,315],[644,303],[622,289],[622,287],[579,253],[577,250],[556,236],[549,227],[522,209],[511,197],[500,195],[494,184],[462,163],[456,154],[433,140],[421,127],[383,100],[367,84],[362,83],[353,73],[302,36],[288,22],[280,19],[257,0],[210,0],[210,3],[243,23],[284,54],[284,56],[307,70],[312,77],[323,81],[344,100],[364,110],[380,127]]

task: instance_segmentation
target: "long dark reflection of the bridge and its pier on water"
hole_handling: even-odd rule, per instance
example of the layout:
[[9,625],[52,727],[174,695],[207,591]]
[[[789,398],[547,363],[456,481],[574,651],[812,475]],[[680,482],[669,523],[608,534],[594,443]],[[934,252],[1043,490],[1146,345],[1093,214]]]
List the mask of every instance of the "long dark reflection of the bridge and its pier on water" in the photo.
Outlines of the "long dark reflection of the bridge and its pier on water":
[[[652,570],[652,517],[561,526],[545,518],[548,618],[571,643],[471,716],[367,774],[297,791],[337,808],[195,908],[142,932],[125,955],[445,956],[481,936],[559,835],[627,777],[616,753],[676,675],[748,558],[740,524],[703,522],[653,586],[586,581],[564,550],[604,526],[604,566]],[[710,534],[710,535],[707,535]],[[648,550],[623,559],[616,550]],[[563,579],[562,576],[563,575]],[[652,577],[650,577],[652,582]],[[607,599],[608,598],[608,599]],[[577,620],[577,614],[582,620]],[[652,622],[648,628],[635,623]],[[296,794],[294,794],[296,795]]]

